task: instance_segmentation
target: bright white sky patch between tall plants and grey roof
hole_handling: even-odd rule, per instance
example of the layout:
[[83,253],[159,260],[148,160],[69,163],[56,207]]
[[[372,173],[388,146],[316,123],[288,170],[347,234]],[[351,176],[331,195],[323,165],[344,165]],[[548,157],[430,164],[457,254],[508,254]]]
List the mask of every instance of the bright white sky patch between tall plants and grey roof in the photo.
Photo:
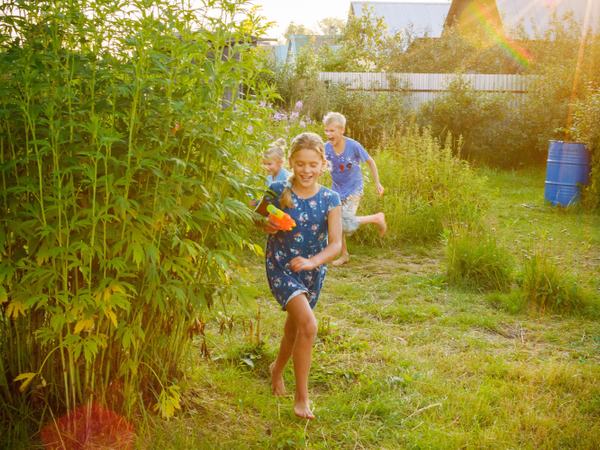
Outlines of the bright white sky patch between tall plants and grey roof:
[[[436,3],[445,0],[418,1]],[[252,3],[261,6],[260,14],[268,21],[277,22],[267,33],[268,37],[276,39],[282,38],[290,22],[318,32],[320,20],[336,17],[345,21],[350,11],[350,0],[252,0]]]

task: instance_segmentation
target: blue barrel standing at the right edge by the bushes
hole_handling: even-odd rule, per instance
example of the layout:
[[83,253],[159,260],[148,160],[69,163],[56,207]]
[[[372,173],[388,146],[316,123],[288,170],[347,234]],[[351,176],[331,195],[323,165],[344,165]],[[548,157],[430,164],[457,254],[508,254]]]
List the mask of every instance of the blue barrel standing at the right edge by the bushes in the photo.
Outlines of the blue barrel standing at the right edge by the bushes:
[[579,142],[550,141],[544,199],[554,206],[579,200],[579,187],[590,179],[590,154]]

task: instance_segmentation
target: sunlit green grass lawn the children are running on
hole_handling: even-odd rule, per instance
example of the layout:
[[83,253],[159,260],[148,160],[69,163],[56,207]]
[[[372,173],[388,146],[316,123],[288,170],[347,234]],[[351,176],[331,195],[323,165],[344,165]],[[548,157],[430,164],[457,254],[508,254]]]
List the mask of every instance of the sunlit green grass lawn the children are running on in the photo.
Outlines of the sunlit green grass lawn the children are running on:
[[[483,172],[487,222],[516,261],[542,248],[600,302],[600,217],[544,205],[543,171]],[[600,447],[597,315],[510,313],[448,287],[443,244],[360,248],[331,268],[316,315],[317,419],[270,393],[285,313],[262,260],[242,302],[207,317],[210,356],[190,354],[182,409],[149,419],[140,445],[190,448]],[[293,375],[285,377],[293,392]]]

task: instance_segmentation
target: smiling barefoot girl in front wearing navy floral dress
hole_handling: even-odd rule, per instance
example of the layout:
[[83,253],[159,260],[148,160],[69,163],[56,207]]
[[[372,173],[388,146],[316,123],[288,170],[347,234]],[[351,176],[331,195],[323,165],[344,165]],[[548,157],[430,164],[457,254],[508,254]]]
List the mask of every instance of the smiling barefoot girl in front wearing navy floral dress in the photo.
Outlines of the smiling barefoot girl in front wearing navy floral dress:
[[271,222],[264,225],[267,241],[266,270],[269,287],[287,312],[283,337],[276,360],[271,364],[271,387],[275,395],[285,395],[283,370],[294,363],[296,394],[294,413],[313,419],[308,397],[308,373],[312,345],[317,334],[313,308],[319,298],[327,268],[342,248],[342,221],[338,194],[318,184],[327,167],[323,140],[315,133],[294,138],[290,152],[292,176],[274,182],[257,211],[267,215],[273,204],[296,222],[291,231],[280,231]]

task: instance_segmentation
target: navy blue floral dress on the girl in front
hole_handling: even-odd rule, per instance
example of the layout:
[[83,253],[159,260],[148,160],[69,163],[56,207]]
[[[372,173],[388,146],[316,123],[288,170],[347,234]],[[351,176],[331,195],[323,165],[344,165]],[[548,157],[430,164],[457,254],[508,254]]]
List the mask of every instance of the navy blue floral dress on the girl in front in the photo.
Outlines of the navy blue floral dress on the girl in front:
[[[273,183],[265,199],[280,208],[284,187],[283,182]],[[313,270],[293,272],[289,263],[296,256],[310,258],[327,246],[327,215],[340,205],[340,196],[326,187],[309,198],[300,198],[292,191],[292,200],[294,208],[282,209],[296,221],[296,227],[270,235],[266,251],[269,287],[284,310],[292,298],[302,293],[311,308],[317,304],[327,267],[323,264]]]

